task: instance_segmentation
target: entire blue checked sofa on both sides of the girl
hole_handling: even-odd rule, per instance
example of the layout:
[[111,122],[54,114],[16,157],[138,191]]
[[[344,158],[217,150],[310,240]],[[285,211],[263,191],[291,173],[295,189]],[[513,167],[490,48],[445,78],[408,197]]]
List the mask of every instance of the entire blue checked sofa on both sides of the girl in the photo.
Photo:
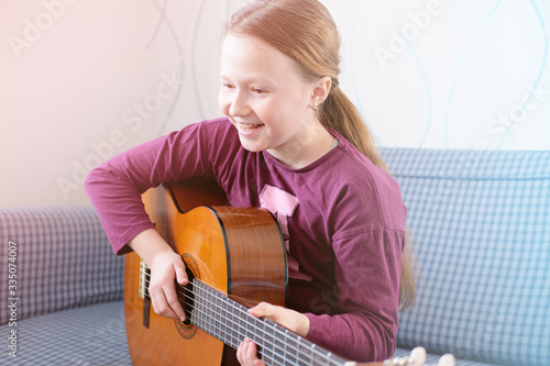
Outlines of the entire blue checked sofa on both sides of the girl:
[[[550,152],[382,153],[417,262],[417,302],[400,314],[396,355],[421,345],[430,364],[452,353],[462,366],[550,365]],[[2,269],[0,364],[131,365],[123,258],[94,210],[0,209],[0,228],[18,299],[13,310]]]

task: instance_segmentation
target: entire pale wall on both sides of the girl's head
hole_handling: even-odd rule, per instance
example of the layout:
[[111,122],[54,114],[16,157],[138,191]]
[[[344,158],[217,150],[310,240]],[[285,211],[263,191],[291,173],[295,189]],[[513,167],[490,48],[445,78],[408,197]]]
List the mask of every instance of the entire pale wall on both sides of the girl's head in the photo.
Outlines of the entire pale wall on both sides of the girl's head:
[[[1,0],[0,207],[89,204],[109,156],[219,115],[244,0]],[[384,146],[550,148],[550,1],[323,0]]]

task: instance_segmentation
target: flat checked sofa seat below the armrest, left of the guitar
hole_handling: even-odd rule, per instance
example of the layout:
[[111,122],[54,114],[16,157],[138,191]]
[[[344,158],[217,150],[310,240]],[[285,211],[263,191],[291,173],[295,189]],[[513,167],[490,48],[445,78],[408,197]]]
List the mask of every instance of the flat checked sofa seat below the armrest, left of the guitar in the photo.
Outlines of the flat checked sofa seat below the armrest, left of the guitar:
[[[131,366],[124,302],[58,311],[18,322],[16,358],[8,365]],[[9,334],[9,325],[0,326]]]

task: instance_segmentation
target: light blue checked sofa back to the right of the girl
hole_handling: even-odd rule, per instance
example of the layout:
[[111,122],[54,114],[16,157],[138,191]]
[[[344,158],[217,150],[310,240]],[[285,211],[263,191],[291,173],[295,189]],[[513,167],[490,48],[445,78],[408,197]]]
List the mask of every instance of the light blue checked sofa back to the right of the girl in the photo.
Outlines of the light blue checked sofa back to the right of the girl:
[[550,365],[550,152],[384,148],[419,274],[398,345]]

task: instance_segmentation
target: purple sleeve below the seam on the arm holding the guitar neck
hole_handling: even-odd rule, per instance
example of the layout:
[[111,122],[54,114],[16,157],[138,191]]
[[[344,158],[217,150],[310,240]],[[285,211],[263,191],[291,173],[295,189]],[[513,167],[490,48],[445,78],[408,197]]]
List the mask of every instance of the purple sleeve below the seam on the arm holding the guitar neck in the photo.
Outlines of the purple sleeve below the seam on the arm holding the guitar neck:
[[404,242],[403,231],[381,229],[333,243],[341,313],[307,313],[308,340],[356,362],[391,357]]

